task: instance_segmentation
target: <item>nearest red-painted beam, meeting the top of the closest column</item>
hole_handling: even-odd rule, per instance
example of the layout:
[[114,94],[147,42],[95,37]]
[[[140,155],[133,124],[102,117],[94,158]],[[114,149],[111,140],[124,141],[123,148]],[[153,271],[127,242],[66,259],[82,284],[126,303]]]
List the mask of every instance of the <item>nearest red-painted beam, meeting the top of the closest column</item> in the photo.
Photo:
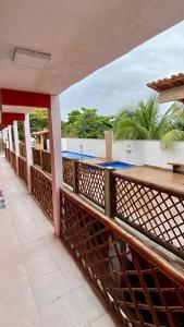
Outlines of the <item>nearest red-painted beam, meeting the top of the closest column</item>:
[[2,88],[1,95],[2,105],[51,108],[51,96],[48,94]]

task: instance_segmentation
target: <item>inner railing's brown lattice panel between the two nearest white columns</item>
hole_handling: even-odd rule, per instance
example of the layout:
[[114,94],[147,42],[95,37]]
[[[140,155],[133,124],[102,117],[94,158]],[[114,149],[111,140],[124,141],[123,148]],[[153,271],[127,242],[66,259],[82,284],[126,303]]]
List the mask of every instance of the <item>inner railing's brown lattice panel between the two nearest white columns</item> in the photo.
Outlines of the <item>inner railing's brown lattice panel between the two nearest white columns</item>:
[[45,213],[52,219],[52,183],[51,179],[40,169],[30,167],[32,194],[38,201]]

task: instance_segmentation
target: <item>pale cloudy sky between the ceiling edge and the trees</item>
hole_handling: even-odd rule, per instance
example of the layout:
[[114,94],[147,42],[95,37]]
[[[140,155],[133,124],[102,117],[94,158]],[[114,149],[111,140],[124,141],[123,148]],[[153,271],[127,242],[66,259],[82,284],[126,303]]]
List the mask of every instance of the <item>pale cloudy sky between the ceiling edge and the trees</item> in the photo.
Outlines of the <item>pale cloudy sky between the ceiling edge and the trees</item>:
[[152,94],[148,82],[184,72],[183,38],[184,21],[68,88],[60,95],[62,120],[81,107],[116,114],[124,105],[146,99]]

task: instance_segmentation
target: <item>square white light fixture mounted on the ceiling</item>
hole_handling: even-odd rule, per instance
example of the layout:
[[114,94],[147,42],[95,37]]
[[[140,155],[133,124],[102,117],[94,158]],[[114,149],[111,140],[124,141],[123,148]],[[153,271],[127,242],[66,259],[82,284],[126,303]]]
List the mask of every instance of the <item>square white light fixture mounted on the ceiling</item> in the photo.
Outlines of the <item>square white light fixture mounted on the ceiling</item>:
[[13,63],[16,65],[41,70],[51,60],[51,55],[15,47]]

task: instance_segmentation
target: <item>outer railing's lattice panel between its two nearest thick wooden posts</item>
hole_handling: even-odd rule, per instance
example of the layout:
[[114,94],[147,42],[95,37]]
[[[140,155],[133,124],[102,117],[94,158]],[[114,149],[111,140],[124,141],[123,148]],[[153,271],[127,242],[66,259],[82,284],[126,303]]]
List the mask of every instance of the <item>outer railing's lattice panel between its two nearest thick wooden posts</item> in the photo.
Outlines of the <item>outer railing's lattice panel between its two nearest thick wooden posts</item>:
[[78,193],[105,208],[105,170],[100,167],[77,162]]

